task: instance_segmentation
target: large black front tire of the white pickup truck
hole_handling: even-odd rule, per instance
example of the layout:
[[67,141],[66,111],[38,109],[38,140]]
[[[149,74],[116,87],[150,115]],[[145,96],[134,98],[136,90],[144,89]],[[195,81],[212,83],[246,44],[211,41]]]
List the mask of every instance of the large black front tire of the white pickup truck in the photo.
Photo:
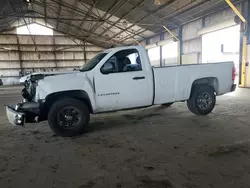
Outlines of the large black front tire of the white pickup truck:
[[[75,123],[76,125],[66,127],[65,125],[62,125],[64,124],[63,121],[60,121],[62,119],[61,113],[62,111],[67,111],[67,109],[70,108],[77,111],[78,119],[77,123]],[[82,101],[73,98],[62,98],[56,101],[50,108],[48,114],[48,123],[50,128],[56,135],[60,135],[63,137],[71,137],[84,133],[87,130],[89,119],[90,112],[88,107]],[[64,122],[65,121],[67,120],[64,120]]]

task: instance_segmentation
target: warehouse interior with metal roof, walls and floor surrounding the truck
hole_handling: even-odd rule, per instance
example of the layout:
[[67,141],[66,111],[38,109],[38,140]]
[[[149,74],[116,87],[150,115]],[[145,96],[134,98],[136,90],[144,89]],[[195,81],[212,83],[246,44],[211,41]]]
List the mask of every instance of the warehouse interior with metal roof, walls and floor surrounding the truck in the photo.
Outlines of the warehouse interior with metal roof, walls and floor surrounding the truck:
[[[1,0],[0,188],[249,188],[248,22],[248,0]],[[207,116],[185,102],[98,114],[77,137],[9,123],[22,76],[130,45],[153,67],[233,61],[237,89]]]

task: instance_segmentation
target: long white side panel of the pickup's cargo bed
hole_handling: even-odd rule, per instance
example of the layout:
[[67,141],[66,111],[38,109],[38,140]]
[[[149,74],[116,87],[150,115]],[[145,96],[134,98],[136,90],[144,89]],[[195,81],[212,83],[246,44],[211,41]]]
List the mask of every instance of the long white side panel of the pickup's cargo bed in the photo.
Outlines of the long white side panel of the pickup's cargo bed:
[[153,68],[155,84],[155,104],[187,100],[192,84],[201,78],[215,78],[217,95],[231,90],[233,62],[204,63]]

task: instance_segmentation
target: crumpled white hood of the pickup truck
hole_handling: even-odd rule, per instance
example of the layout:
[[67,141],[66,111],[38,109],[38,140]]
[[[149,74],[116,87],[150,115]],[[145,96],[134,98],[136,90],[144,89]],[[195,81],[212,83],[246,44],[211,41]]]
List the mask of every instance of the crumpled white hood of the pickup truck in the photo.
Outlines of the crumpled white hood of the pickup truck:
[[55,75],[61,75],[61,74],[72,74],[76,73],[77,71],[64,71],[64,72],[35,72],[28,74],[26,76],[23,76],[20,78],[19,82],[20,84],[24,84],[25,82],[29,81],[32,79],[32,81],[38,81],[41,79],[44,79],[45,77],[48,76],[55,76]]

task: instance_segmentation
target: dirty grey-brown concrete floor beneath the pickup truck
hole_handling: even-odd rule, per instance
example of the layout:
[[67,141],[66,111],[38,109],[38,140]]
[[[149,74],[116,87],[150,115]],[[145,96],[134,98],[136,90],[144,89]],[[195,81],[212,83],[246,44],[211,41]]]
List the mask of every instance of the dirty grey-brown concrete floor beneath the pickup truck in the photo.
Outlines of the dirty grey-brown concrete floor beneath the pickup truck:
[[[0,89],[0,104],[19,88]],[[8,95],[6,95],[8,94]],[[0,188],[249,188],[250,90],[219,97],[206,117],[185,103],[92,117],[90,132],[12,127],[0,109]]]

